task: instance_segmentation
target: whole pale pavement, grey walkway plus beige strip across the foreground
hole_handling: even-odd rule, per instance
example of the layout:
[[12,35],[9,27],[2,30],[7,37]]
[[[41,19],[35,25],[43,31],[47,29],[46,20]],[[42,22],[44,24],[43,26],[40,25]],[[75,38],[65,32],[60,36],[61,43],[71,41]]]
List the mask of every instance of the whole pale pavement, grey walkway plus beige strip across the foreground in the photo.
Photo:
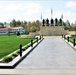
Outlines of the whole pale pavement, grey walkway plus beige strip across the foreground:
[[15,69],[4,74],[76,75],[76,51],[62,38],[45,38]]

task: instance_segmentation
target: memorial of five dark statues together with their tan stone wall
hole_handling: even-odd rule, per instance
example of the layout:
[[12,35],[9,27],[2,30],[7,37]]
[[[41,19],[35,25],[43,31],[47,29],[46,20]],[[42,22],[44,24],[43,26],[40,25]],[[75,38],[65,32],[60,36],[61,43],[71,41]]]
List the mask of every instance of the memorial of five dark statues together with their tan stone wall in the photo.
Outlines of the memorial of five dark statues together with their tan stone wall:
[[40,29],[40,35],[44,36],[61,36],[62,34],[67,34],[64,30],[63,20],[60,19],[53,19],[51,20],[43,19],[42,25]]

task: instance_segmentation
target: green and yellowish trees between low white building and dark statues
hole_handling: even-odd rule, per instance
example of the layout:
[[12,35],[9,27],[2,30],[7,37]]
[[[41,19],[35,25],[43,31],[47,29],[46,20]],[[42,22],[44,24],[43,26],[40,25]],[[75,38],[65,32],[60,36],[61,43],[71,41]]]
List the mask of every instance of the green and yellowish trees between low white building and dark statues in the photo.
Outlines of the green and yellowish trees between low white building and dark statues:
[[36,21],[16,21],[15,19],[13,19],[11,22],[10,22],[10,26],[11,27],[18,27],[18,26],[22,26],[25,28],[25,31],[26,33],[29,33],[29,32],[36,32],[36,31],[39,31],[40,30],[40,26],[41,26],[41,22],[39,20],[36,20]]

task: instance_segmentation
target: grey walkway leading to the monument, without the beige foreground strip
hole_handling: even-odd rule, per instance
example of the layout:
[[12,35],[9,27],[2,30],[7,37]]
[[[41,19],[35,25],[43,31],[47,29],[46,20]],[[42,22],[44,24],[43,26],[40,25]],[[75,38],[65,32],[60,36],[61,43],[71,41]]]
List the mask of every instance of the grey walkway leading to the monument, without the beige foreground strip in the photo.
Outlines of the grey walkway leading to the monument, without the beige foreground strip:
[[76,51],[61,38],[46,38],[16,68],[76,68]]

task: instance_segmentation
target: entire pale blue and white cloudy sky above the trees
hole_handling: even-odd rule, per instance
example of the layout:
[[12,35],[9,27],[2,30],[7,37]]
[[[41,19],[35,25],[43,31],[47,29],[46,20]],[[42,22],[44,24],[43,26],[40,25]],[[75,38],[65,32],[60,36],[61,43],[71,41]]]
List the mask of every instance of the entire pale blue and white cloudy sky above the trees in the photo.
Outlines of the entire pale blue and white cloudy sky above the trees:
[[41,20],[53,18],[75,22],[76,0],[0,0],[0,22],[10,22],[12,19],[21,21]]

